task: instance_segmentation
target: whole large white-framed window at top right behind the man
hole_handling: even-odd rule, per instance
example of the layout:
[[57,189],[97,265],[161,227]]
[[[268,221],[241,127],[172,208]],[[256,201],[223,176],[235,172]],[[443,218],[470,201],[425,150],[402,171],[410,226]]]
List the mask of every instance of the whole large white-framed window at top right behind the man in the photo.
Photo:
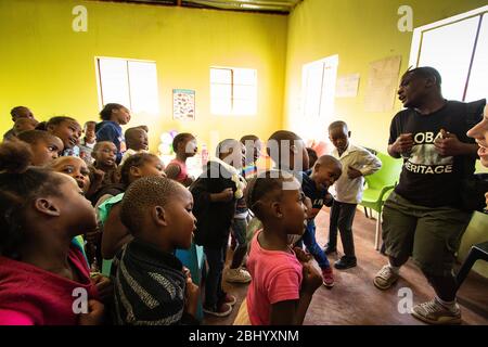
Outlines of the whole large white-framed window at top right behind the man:
[[433,66],[446,99],[488,97],[488,7],[436,22],[413,33],[410,65]]

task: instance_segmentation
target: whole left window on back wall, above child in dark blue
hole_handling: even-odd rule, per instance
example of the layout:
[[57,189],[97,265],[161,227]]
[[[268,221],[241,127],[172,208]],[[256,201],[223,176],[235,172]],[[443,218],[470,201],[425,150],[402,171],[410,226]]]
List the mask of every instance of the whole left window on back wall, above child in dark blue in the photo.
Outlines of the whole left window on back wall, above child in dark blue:
[[133,113],[158,114],[155,62],[98,57],[100,102],[119,103]]

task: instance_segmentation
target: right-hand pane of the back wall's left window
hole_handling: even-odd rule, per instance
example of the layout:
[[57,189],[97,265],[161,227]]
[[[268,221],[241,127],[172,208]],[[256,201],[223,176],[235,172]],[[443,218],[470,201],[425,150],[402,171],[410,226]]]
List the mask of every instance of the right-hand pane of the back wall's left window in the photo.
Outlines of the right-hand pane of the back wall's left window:
[[129,62],[132,112],[159,113],[156,63]]

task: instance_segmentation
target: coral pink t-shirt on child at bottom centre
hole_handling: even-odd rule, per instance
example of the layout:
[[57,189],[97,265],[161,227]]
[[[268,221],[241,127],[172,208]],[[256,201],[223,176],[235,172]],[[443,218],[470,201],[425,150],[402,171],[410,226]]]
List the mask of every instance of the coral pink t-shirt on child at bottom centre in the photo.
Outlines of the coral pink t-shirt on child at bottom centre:
[[253,325],[269,325],[271,305],[299,298],[303,273],[294,253],[262,248],[257,239],[260,233],[261,230],[254,235],[247,259],[253,277],[247,291],[247,312]]

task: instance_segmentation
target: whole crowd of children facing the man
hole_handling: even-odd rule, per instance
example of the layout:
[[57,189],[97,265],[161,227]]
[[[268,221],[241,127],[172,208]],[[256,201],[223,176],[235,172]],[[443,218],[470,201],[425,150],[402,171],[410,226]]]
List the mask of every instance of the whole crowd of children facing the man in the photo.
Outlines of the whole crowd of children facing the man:
[[[317,288],[334,285],[326,255],[337,228],[345,256],[335,268],[357,264],[356,204],[381,162],[349,143],[343,121],[329,127],[332,155],[279,130],[267,141],[275,169],[258,170],[264,144],[244,136],[221,141],[194,178],[195,137],[175,137],[165,168],[146,126],[123,132],[123,105],[105,105],[102,121],[84,128],[67,116],[37,123],[25,106],[11,115],[0,144],[0,325],[198,324],[201,295],[205,313],[233,311],[222,281],[251,282],[235,324],[301,324]],[[323,205],[325,249],[314,224]],[[194,244],[207,264],[202,287],[176,256]]]

